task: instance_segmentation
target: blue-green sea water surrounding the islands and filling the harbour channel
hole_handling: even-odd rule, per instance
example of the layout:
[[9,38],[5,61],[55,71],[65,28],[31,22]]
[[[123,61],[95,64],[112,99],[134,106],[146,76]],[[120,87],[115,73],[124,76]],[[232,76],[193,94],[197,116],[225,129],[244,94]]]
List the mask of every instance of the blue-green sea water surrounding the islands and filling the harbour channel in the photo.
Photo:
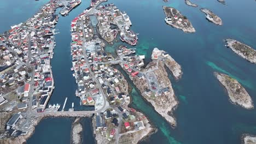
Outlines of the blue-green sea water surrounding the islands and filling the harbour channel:
[[[28,19],[45,2],[41,0],[37,2],[4,1],[0,6],[0,18],[5,22],[2,23],[0,32],[7,31],[10,25]],[[172,129],[170,124],[158,115],[131,85],[131,106],[143,112],[158,128],[158,132],[141,143],[241,143],[240,138],[243,133],[256,134],[256,110],[245,110],[232,105],[224,88],[213,75],[214,71],[219,71],[234,77],[256,101],[256,65],[237,56],[230,49],[226,49],[223,41],[226,38],[233,38],[256,47],[256,19],[254,19],[256,2],[226,0],[226,5],[218,3],[217,0],[194,0],[193,2],[199,7],[189,7],[184,1],[179,0],[167,3],[161,0],[108,1],[117,5],[120,10],[126,11],[130,16],[132,30],[139,33],[136,51],[139,55],[146,55],[146,62],[150,61],[154,47],[158,47],[170,53],[183,68],[181,80],[174,81],[170,76],[179,100],[179,106],[173,113],[178,122],[176,129]],[[31,5],[31,9],[23,9],[26,5]],[[164,22],[163,5],[177,8],[187,16],[195,27],[196,33],[187,34],[167,26]],[[56,35],[56,49],[52,61],[55,89],[50,103],[63,105],[65,98],[68,97],[66,110],[71,107],[72,102],[77,110],[91,109],[80,106],[79,99],[74,97],[76,85],[70,70],[69,47],[70,22],[88,6],[89,1],[82,1],[82,4],[68,16],[60,17],[56,26],[60,34]],[[222,18],[223,26],[208,22],[200,8],[211,9]],[[116,46],[118,45],[108,46],[106,49],[113,52]],[[28,142],[38,143],[37,139],[40,136],[51,139],[51,131],[57,130],[61,136],[54,137],[48,143],[59,143],[64,136],[67,140],[63,143],[69,143],[72,121],[68,118],[64,119],[57,124],[54,123],[55,118],[43,120]],[[90,118],[85,119],[83,123],[88,127],[85,130],[86,133],[84,132],[86,135],[84,142],[94,143]],[[46,125],[51,127],[45,129]]]

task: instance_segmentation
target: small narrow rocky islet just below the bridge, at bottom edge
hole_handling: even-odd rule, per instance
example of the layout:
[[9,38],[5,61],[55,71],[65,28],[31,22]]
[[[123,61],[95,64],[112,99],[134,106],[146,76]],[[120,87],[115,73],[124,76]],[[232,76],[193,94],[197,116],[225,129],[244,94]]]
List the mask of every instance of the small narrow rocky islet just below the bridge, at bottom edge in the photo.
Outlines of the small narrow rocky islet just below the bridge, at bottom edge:
[[80,118],[75,118],[74,122],[72,123],[72,130],[71,130],[72,144],[82,143],[82,131],[83,131],[83,126],[82,124],[80,124]]

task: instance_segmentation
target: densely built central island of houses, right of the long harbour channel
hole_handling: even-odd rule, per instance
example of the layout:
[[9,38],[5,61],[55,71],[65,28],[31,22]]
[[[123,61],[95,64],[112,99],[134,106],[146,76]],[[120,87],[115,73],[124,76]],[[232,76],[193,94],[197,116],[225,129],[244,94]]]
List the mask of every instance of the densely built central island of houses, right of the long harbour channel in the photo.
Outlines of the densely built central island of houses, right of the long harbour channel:
[[[127,137],[137,143],[153,130],[142,113],[128,107],[129,84],[124,75],[114,67],[126,61],[125,58],[138,57],[125,57],[135,53],[135,50],[120,46],[120,57],[116,58],[104,52],[104,46],[111,44],[118,33],[122,41],[136,45],[137,35],[130,30],[130,26],[129,16],[114,4],[98,5],[96,9],[88,8],[71,23],[71,70],[74,71],[78,84],[76,95],[83,105],[95,106],[95,111],[101,110],[96,112],[92,120],[97,143],[120,143]],[[142,66],[143,59],[140,63]],[[146,130],[133,140],[136,132],[142,129]]]

